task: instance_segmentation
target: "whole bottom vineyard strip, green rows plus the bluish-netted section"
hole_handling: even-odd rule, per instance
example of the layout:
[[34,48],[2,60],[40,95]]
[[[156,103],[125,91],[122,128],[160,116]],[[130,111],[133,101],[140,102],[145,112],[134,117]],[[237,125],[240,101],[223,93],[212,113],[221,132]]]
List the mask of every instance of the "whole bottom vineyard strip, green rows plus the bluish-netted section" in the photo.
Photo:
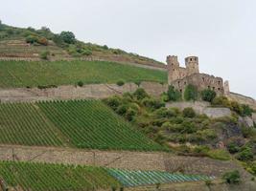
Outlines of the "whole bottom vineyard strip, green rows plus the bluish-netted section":
[[159,171],[130,171],[81,165],[1,161],[0,179],[4,180],[5,188],[12,186],[31,191],[79,191],[157,183],[205,181],[214,178]]

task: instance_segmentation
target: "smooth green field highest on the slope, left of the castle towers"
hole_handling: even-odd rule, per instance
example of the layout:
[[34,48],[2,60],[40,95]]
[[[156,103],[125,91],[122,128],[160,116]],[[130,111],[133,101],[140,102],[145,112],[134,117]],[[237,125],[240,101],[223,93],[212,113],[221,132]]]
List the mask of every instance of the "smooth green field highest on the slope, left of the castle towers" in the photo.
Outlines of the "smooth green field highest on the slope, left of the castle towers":
[[0,88],[75,85],[78,81],[116,83],[119,80],[167,82],[167,73],[102,61],[0,61]]

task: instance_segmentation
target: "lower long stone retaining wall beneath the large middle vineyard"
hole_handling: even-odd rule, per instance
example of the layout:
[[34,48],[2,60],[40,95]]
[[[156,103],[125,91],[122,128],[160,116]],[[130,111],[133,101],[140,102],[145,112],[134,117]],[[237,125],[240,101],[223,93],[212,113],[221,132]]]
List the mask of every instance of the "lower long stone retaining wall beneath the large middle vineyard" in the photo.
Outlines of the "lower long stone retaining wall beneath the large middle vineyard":
[[221,176],[230,169],[240,169],[232,161],[182,157],[163,152],[99,151],[57,147],[0,145],[1,160],[35,161],[96,165],[131,170],[160,170],[188,174]]

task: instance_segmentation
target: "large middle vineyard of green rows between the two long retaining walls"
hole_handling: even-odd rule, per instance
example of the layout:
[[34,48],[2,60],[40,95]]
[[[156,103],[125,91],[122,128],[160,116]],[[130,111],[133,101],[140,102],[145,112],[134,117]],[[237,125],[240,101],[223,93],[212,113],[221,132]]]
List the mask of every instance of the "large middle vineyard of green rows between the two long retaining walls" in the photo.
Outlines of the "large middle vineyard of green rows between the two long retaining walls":
[[100,100],[2,103],[0,143],[163,150]]

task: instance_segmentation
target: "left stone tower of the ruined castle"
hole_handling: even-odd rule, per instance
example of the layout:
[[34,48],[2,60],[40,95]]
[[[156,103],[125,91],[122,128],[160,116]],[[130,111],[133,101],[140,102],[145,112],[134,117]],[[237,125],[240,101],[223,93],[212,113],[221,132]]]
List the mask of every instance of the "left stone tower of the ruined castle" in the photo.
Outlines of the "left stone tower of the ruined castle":
[[168,83],[170,84],[175,79],[179,77],[179,63],[177,61],[176,55],[168,55],[167,59],[167,69],[168,69]]

